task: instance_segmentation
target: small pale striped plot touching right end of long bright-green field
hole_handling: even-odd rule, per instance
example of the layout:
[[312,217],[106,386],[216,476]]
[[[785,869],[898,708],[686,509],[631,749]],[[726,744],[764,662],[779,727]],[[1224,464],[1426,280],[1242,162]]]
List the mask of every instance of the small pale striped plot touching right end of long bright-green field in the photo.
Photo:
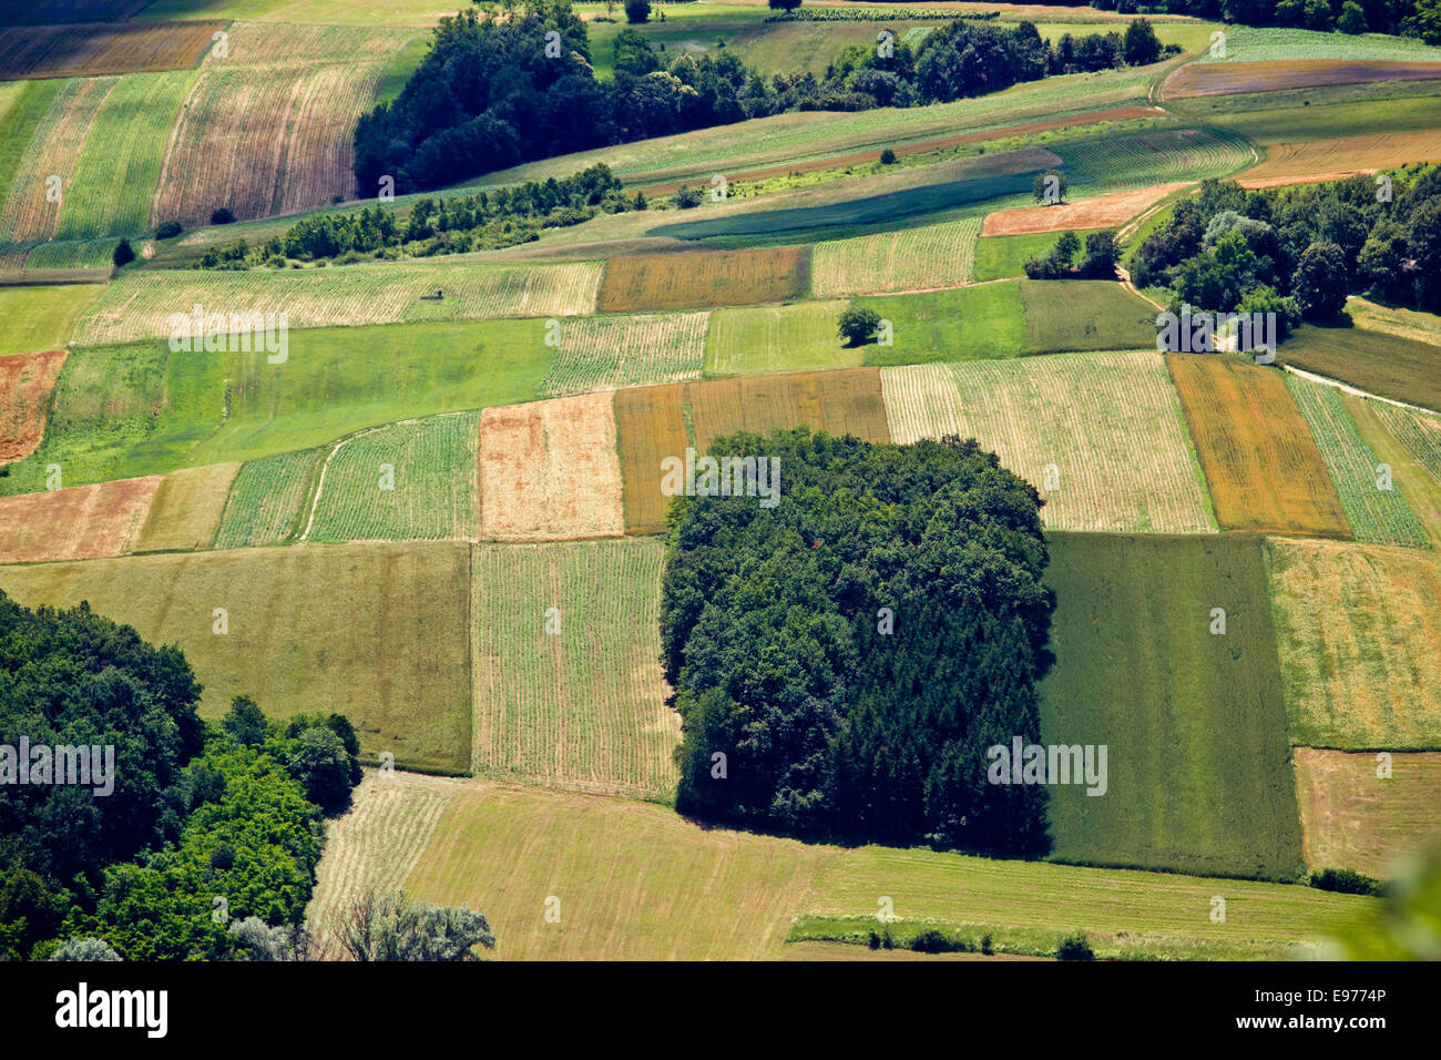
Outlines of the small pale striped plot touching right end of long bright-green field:
[[561,355],[540,394],[650,387],[699,379],[706,358],[709,313],[589,316],[561,327]]

